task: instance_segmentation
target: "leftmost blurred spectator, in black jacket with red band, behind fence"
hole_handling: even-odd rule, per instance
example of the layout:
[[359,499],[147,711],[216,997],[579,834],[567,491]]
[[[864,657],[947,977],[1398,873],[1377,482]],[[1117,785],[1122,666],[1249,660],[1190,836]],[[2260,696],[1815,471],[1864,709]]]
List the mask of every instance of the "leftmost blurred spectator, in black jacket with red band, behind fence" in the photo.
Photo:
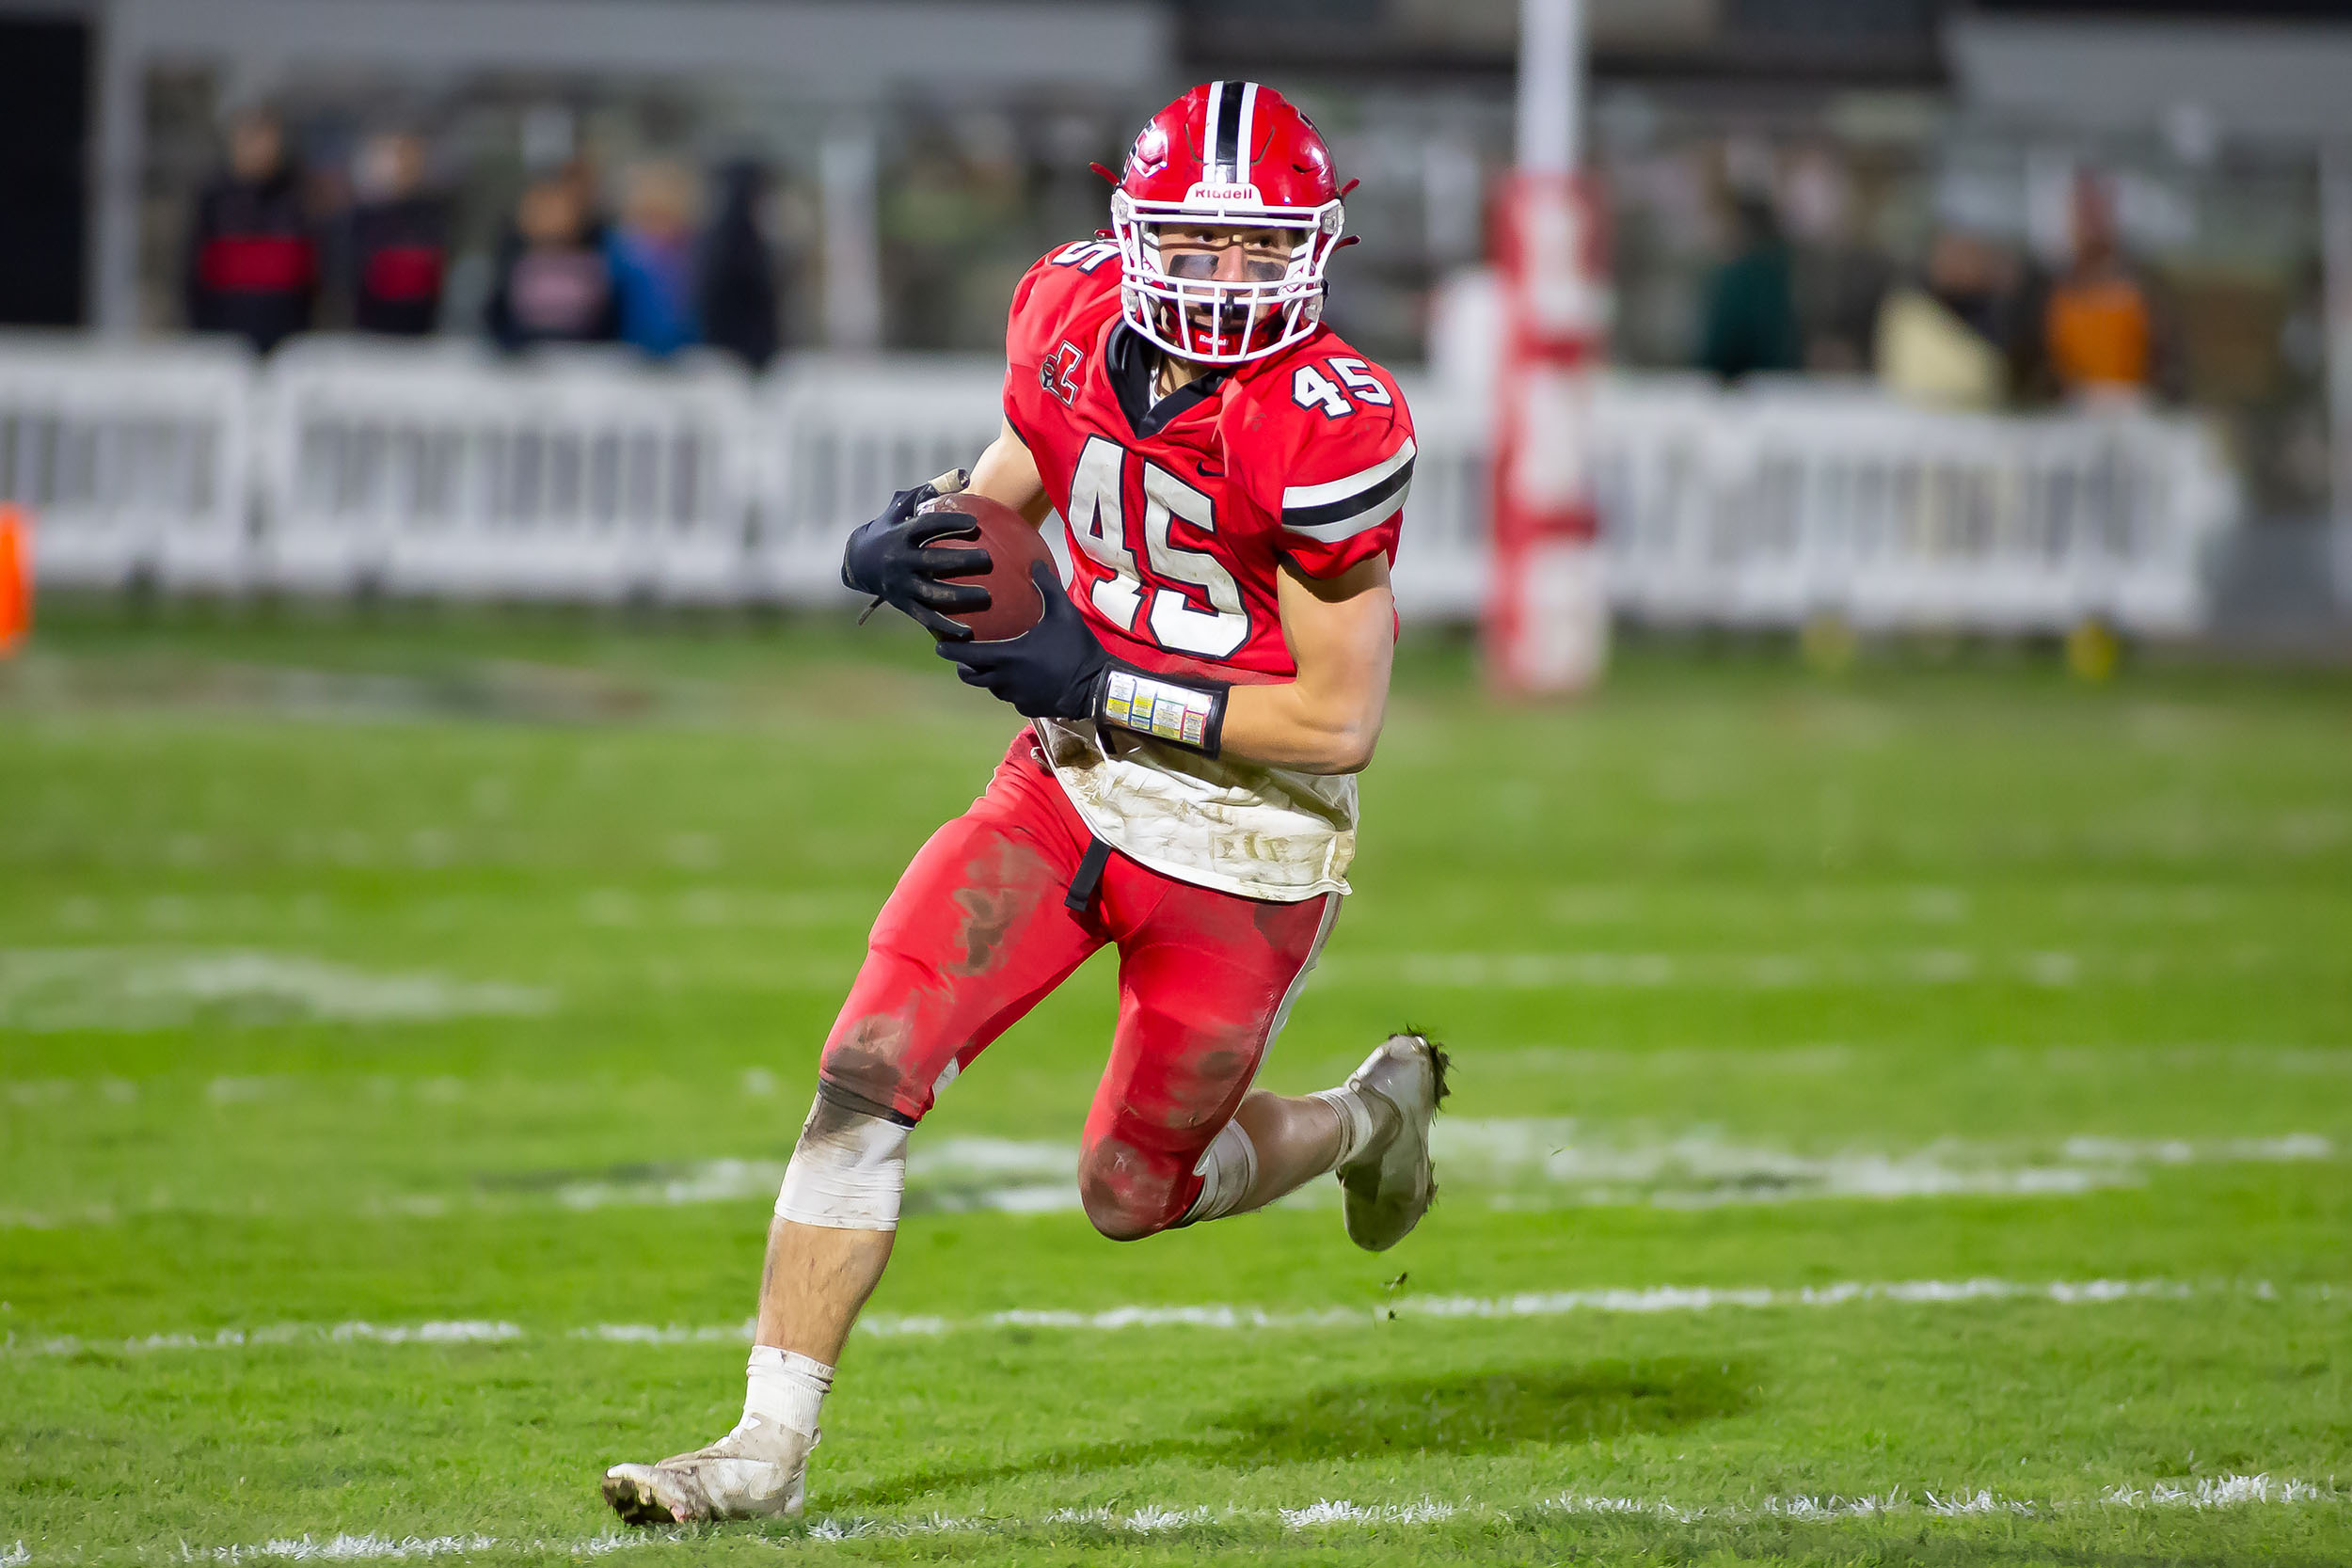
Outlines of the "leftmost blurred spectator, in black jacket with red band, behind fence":
[[310,327],[318,235],[285,127],[266,108],[230,120],[228,167],[195,197],[186,296],[195,331],[235,331],[259,353]]

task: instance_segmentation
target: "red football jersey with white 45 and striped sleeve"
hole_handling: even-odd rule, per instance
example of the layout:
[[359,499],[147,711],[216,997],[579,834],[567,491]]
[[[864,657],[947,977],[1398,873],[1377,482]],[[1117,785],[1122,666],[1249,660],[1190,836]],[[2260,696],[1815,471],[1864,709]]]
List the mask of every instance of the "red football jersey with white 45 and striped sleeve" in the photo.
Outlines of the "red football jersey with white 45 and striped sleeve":
[[1414,418],[1331,329],[1152,400],[1120,256],[1065,244],[1014,289],[1004,418],[1070,527],[1070,597],[1145,670],[1289,679],[1275,571],[1397,559]]

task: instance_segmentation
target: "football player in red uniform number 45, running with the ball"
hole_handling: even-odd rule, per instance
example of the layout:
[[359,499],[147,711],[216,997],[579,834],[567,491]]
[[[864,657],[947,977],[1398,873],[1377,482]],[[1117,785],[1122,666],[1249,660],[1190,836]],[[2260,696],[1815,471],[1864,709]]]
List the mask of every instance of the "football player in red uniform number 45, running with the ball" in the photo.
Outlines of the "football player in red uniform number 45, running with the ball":
[[[1108,172],[1105,172],[1108,174]],[[1004,331],[1004,423],[971,489],[1061,512],[1068,592],[974,642],[988,555],[903,489],[842,581],[927,625],[1025,724],[988,792],[882,905],[826,1039],[769,1229],[743,1420],[616,1465],[633,1523],[797,1514],[818,1406],[882,1279],[908,1131],[1105,943],[1120,1023],[1080,1199],[1131,1241],[1263,1208],[1338,1173],[1348,1237],[1395,1246],[1430,1206],[1446,1058],[1392,1034],[1338,1088],[1251,1079],[1315,966],[1355,856],[1397,635],[1388,588],[1414,421],[1322,324],[1343,188],[1282,94],[1209,82],[1136,136],[1110,228],[1028,270]]]

